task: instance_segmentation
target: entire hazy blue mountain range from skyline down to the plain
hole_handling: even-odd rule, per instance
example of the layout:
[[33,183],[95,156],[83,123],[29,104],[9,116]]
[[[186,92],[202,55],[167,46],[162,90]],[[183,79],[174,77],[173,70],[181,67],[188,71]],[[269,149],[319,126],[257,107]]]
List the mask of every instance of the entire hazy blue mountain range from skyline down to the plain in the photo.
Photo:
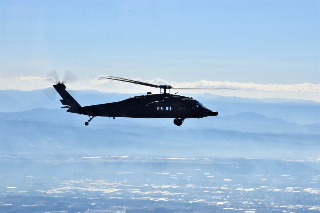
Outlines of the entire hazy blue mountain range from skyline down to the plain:
[[[76,100],[86,105],[131,96],[134,95],[79,91]],[[1,110],[14,111],[42,105],[57,108],[1,112],[1,153],[152,153],[159,156],[230,157],[319,155],[320,123],[317,114],[320,112],[316,102],[263,103],[238,97],[192,96],[208,108],[219,111],[219,116],[186,119],[182,126],[175,126],[173,119],[168,118],[114,120],[96,117],[89,126],[84,126],[87,116],[60,109],[59,100],[51,101],[41,90],[1,91]],[[292,111],[300,111],[300,117],[305,117],[308,122],[317,122],[310,125],[288,122],[283,117],[292,117]],[[268,114],[279,115],[280,118]]]

